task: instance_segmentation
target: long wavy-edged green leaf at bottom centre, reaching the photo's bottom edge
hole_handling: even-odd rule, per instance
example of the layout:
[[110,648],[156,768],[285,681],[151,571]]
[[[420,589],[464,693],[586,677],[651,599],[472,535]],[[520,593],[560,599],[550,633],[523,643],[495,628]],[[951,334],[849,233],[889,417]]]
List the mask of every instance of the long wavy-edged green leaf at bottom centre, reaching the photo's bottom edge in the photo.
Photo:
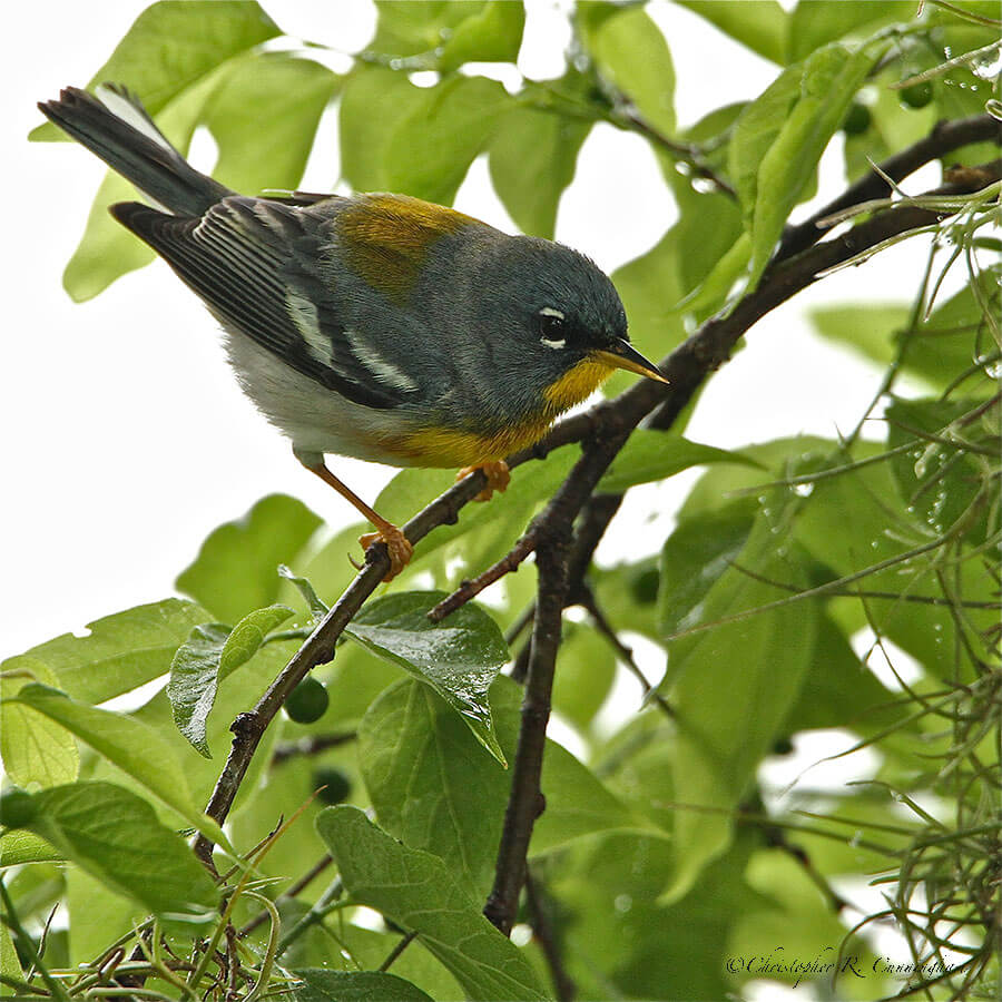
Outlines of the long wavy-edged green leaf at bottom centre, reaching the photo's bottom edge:
[[418,933],[472,1000],[541,1000],[547,994],[519,949],[481,912],[480,902],[431,853],[406,848],[355,807],[316,821],[352,900]]

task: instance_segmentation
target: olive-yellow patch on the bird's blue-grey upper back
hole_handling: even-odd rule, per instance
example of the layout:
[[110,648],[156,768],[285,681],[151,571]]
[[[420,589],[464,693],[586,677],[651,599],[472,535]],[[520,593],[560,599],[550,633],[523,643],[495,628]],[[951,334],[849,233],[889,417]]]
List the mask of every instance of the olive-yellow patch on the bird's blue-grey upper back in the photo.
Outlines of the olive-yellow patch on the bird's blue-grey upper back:
[[420,198],[365,195],[341,215],[337,230],[348,267],[403,305],[432,245],[471,224],[483,225]]

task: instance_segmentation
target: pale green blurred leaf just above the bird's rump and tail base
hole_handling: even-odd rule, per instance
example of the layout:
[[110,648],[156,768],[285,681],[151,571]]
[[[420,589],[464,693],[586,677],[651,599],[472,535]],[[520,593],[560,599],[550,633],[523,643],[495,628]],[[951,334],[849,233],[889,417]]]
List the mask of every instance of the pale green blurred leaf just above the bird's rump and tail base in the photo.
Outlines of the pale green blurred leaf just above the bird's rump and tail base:
[[246,195],[295,189],[337,84],[326,67],[291,52],[240,60],[203,116],[219,147],[213,176]]

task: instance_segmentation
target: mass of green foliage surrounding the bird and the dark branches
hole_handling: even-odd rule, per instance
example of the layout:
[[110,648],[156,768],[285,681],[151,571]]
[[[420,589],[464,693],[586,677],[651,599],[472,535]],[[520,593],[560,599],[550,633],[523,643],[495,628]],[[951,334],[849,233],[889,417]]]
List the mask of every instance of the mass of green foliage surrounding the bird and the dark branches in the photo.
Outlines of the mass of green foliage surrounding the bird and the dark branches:
[[[317,129],[336,101],[352,187],[450,203],[485,157],[511,218],[543,237],[592,126],[639,135],[678,218],[613,279],[635,342],[660,356],[762,278],[833,139],[855,180],[936,120],[999,98],[995,3],[679,2],[775,66],[763,94],[686,129],[671,40],[645,2],[579,0],[551,80],[515,69],[525,11],[513,0],[382,0],[344,73],[323,65],[323,40],[284,37],[281,3],[276,22],[250,0],[159,2],[94,82],[134,88],[183,149],[206,126],[217,175],[248,193],[295,188],[314,145],[333,141]],[[519,82],[502,86],[491,63]],[[59,137],[46,125],[32,138]],[[980,145],[949,163],[996,155]],[[105,212],[124,197],[109,176],[67,267],[75,298],[150,259]],[[942,224],[926,273],[902,276],[895,298],[814,311],[817,333],[880,380],[855,429],[725,452],[682,439],[684,415],[616,459],[602,491],[704,472],[671,530],[648,533],[649,556],[589,570],[584,612],[564,623],[554,709],[574,750],[548,743],[534,903],[519,920],[531,936],[509,941],[481,910],[519,730],[519,687],[499,670],[527,642],[534,572],[443,627],[424,612],[509,550],[576,446],[418,547],[314,672],[330,697],[318,719],[272,723],[227,836],[200,805],[229,725],[350,582],[356,527],[332,537],[298,501],[265,498],[208,537],[177,580],[186,598],[4,661],[0,750],[21,788],[0,800],[4,991],[515,1000],[567,998],[570,981],[586,999],[677,1000],[767,980],[815,998],[996,998],[1002,338],[1000,271],[980,263],[999,249],[991,198],[998,186]],[[451,478],[403,471],[376,507],[404,519]],[[638,670],[631,636],[655,645],[664,672],[610,725],[617,679]],[[99,706],[126,694],[131,708]],[[875,753],[864,782],[815,787],[808,773],[777,793],[764,764],[833,730]],[[324,785],[345,803],[314,799]],[[226,847],[219,883],[186,847],[194,829]],[[856,901],[865,882],[884,897]],[[60,903],[68,930],[51,924]],[[874,952],[877,922],[907,944],[901,970]]]

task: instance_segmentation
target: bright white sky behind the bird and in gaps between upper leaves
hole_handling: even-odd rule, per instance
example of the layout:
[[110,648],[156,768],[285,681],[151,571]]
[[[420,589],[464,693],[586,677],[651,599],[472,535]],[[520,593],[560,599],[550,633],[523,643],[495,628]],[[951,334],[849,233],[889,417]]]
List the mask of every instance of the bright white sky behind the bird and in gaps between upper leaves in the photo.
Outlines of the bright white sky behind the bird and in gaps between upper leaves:
[[[265,494],[296,495],[335,527],[356,519],[244,399],[215,322],[165,265],[132,273],[84,305],[62,289],[61,272],[104,165],[70,144],[28,144],[27,132],[41,121],[35,102],[67,84],[86,84],[146,6],[50,0],[10,4],[4,14],[0,657],[173,593],[176,574],[205,536]],[[291,35],[344,50],[364,43],[373,24],[365,0],[264,6]],[[560,6],[529,0],[528,7],[522,68],[557,75],[554,37],[560,43],[567,37]],[[688,11],[667,0],[650,10],[675,58],[680,125],[757,95],[775,76],[775,67]],[[330,189],[337,181],[333,125],[328,115],[324,126],[331,128],[321,137],[327,148],[311,164],[304,187]],[[910,189],[920,190],[925,179]],[[842,180],[839,157],[828,156],[822,191],[831,197]],[[456,206],[512,228],[483,160],[474,164]],[[597,127],[561,203],[558,239],[611,271],[654,245],[674,217],[646,144]],[[726,448],[851,429],[878,374],[816,340],[805,307],[906,297],[924,249],[912,242],[826,278],[766,317],[748,348],[714,377],[687,434]],[[370,500],[393,473],[343,459],[332,466]],[[518,473],[511,490],[518,490]],[[638,492],[613,523],[602,559],[660,541],[670,527],[667,505],[680,492],[680,485]],[[656,508],[659,531],[638,533]]]

